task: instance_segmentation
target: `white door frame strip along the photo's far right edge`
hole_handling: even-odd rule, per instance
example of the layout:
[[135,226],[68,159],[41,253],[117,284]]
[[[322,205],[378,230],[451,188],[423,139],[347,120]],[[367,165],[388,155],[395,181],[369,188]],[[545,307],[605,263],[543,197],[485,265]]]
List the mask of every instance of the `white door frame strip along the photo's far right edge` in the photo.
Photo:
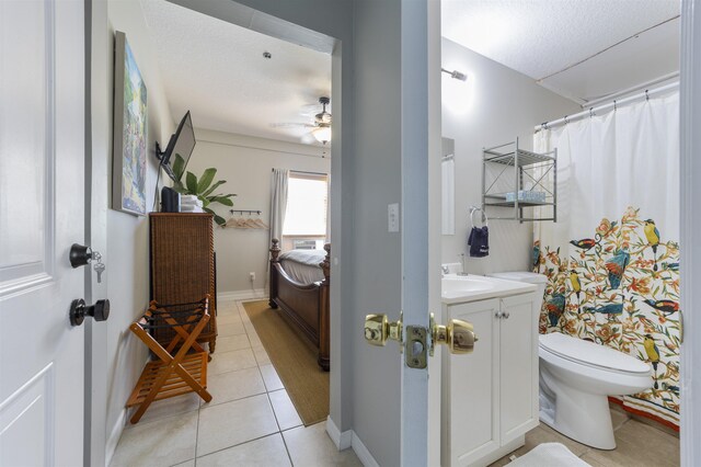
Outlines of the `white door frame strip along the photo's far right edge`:
[[[693,0],[681,1],[680,38],[680,244],[681,310],[683,341],[681,345],[681,465],[692,467],[701,460],[701,317],[693,311],[701,303],[694,284],[701,280],[701,247],[694,242],[701,230],[701,8]],[[694,128],[697,130],[694,132]],[[694,203],[696,201],[696,203]],[[690,310],[687,312],[687,310]],[[697,376],[699,375],[699,376]],[[694,377],[696,376],[696,377]]]

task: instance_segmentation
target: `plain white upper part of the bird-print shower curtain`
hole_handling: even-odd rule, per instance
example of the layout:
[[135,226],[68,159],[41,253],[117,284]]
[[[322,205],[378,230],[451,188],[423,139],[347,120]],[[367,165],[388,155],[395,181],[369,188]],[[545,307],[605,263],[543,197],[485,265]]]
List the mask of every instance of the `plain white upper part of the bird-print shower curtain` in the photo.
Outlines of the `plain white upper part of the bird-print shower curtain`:
[[536,134],[536,151],[555,147],[558,223],[535,223],[537,238],[568,241],[631,205],[679,238],[678,93]]

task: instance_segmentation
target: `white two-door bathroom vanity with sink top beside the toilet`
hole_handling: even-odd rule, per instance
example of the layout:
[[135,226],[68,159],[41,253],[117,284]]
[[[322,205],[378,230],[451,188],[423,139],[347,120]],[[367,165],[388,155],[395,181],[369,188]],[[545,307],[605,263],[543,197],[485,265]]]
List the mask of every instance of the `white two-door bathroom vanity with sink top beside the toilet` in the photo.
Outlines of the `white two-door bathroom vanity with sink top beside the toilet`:
[[471,322],[480,339],[467,358],[443,354],[444,466],[486,466],[538,426],[536,289],[493,277],[444,277],[444,318]]

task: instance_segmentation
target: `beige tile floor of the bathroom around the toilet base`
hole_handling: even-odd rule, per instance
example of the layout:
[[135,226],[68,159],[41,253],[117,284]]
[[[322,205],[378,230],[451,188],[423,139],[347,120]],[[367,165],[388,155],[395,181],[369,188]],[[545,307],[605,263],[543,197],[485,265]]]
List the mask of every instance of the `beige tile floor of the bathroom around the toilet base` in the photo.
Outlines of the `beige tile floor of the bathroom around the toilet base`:
[[575,456],[593,467],[673,467],[679,465],[679,438],[646,423],[631,419],[624,412],[611,410],[617,447],[595,449],[541,423],[526,434],[526,445],[501,458],[491,467],[507,465],[513,455],[522,456],[541,443],[562,443]]

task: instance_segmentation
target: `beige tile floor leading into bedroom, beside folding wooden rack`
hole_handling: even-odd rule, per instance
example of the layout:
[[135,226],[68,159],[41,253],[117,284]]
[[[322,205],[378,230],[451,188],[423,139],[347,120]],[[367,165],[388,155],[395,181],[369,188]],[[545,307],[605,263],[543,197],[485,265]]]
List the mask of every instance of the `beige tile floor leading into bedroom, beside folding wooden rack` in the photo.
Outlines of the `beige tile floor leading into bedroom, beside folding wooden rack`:
[[196,395],[151,405],[122,434],[112,466],[360,466],[325,423],[304,428],[240,301],[219,303],[209,403]]

